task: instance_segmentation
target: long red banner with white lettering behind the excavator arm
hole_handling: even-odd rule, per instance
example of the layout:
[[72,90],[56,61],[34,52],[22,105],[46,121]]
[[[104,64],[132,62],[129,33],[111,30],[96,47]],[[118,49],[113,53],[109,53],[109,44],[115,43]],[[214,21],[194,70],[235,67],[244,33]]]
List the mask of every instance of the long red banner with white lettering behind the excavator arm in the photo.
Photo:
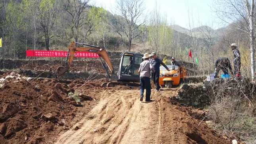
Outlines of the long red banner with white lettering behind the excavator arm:
[[[26,50],[26,55],[28,57],[67,57],[67,51]],[[100,56],[92,52],[76,52],[75,57],[99,58]]]

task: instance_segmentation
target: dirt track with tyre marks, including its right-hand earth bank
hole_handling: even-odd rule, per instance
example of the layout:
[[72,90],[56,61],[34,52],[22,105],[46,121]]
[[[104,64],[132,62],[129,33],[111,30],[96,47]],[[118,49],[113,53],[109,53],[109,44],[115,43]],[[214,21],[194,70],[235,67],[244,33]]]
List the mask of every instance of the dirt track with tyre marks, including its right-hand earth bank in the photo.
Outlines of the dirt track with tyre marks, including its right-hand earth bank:
[[56,144],[105,143],[226,143],[221,136],[186,113],[171,106],[159,92],[153,102],[140,102],[139,90],[106,90],[99,104]]

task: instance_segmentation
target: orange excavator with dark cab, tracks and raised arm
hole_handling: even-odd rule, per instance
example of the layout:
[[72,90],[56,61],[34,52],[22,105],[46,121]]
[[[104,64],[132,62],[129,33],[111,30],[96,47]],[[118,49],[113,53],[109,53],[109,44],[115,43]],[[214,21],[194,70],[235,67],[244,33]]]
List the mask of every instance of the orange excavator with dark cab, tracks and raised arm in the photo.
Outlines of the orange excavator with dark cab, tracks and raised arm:
[[[84,47],[77,47],[77,44],[82,44]],[[109,83],[103,83],[103,87],[113,87],[116,85],[125,85],[125,86],[139,86],[139,72],[138,69],[140,67],[140,63],[142,61],[142,54],[133,53],[133,52],[123,52],[121,54],[121,60],[119,63],[119,69],[117,71],[117,75],[114,74],[113,65],[108,57],[108,53],[105,48],[99,46],[93,46],[90,44],[83,44],[79,42],[71,42],[68,47],[67,59],[64,66],[60,66],[57,68],[57,75],[61,77],[65,72],[69,70],[71,63],[74,59],[75,52],[91,52],[98,54],[100,56],[100,61],[102,63],[103,68],[105,69],[108,77],[111,80]],[[106,61],[106,65],[110,73],[108,73],[107,68],[105,67],[102,59]]]

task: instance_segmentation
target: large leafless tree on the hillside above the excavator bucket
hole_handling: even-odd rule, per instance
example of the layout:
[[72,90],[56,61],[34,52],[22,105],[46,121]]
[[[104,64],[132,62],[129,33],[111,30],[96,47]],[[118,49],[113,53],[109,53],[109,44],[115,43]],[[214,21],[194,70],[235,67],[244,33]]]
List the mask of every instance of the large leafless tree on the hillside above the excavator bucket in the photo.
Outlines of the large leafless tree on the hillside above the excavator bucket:
[[71,27],[72,36],[74,36],[75,41],[79,41],[79,28],[81,27],[81,20],[84,18],[81,14],[88,7],[88,2],[90,0],[67,0],[64,4],[65,10],[71,15]]

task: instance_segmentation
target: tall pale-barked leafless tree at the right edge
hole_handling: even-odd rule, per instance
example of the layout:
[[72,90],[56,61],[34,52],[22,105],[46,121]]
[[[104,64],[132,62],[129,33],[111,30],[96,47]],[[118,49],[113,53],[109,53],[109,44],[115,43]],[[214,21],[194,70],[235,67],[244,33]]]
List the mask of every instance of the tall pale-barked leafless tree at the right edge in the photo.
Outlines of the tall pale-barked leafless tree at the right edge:
[[250,37],[251,76],[254,79],[255,0],[216,0],[219,17]]

